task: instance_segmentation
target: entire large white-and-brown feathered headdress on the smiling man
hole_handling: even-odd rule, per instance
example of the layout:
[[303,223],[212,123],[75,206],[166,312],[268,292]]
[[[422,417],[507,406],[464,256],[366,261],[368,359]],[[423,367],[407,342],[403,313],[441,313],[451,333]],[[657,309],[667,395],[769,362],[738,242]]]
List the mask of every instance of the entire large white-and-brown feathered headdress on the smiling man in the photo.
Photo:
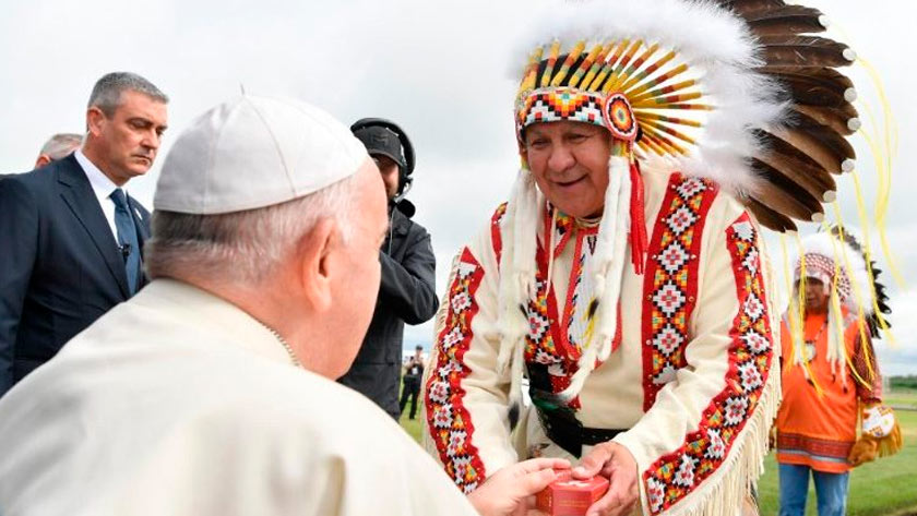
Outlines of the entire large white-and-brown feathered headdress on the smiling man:
[[516,128],[579,120],[624,140],[640,132],[639,158],[715,180],[772,229],[821,221],[860,127],[856,91],[837,71],[856,53],[812,35],[827,26],[819,10],[783,0],[552,4],[520,52]]

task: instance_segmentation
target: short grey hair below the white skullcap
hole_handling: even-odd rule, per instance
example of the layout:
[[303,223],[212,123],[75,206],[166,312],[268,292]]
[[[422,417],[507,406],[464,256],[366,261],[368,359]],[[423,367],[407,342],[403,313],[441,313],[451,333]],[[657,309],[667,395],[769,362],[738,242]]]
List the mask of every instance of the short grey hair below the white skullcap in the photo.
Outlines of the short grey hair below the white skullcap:
[[332,218],[344,243],[353,236],[354,176],[282,204],[195,215],[155,211],[144,248],[151,279],[189,276],[257,286],[276,272],[319,220]]

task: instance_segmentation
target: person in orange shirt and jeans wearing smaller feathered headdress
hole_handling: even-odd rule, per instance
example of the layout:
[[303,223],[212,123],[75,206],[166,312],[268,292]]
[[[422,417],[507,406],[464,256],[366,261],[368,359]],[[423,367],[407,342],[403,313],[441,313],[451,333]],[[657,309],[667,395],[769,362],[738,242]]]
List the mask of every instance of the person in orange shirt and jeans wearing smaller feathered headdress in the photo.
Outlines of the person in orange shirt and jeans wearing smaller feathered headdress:
[[[888,326],[872,309],[886,308],[885,297],[869,280],[861,248],[843,230],[814,235],[802,248],[797,288],[781,325],[779,514],[802,516],[811,471],[819,515],[843,516],[849,470],[877,454],[893,453],[879,446],[894,420],[876,424],[891,411],[881,406],[882,382],[870,339],[878,337],[879,326]],[[858,442],[861,409],[864,437]]]

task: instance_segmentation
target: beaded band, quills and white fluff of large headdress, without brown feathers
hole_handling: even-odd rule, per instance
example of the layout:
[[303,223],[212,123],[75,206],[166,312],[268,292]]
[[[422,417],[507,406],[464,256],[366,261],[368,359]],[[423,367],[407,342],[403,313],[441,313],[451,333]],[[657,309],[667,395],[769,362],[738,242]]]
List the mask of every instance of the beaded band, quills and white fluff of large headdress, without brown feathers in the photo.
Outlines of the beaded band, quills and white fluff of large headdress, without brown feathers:
[[[522,136],[536,122],[574,120],[633,143],[633,154],[716,180],[758,183],[751,128],[773,125],[779,88],[747,24],[712,2],[658,0],[556,4],[533,24],[516,95]],[[638,133],[641,134],[638,139]]]

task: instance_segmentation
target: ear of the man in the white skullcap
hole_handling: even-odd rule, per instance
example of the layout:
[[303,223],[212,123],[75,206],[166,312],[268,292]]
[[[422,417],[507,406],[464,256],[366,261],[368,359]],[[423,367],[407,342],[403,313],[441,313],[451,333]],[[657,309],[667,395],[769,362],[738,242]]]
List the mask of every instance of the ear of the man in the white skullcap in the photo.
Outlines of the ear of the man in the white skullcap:
[[332,279],[340,274],[334,261],[340,235],[331,218],[322,218],[299,242],[300,281],[307,302],[318,312],[326,311],[332,303]]

